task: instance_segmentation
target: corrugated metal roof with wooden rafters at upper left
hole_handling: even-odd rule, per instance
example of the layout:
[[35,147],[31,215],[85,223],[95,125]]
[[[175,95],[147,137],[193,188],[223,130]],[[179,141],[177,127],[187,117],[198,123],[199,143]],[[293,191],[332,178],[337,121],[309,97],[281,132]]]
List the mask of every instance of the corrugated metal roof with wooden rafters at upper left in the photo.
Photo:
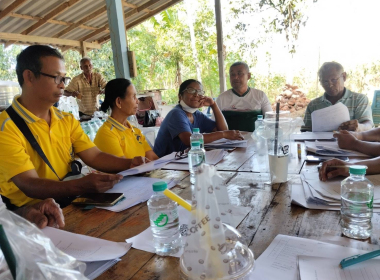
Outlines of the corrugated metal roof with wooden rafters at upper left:
[[[122,1],[126,29],[181,0]],[[0,43],[99,48],[110,40],[105,0],[1,0]]]

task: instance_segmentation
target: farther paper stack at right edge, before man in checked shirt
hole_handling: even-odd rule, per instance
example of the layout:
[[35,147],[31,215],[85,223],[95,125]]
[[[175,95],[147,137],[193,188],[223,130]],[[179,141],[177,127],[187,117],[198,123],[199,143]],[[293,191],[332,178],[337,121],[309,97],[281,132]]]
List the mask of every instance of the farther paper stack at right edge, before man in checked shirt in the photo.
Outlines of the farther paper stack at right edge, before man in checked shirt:
[[306,150],[322,156],[368,157],[359,152],[340,149],[337,142],[305,141]]

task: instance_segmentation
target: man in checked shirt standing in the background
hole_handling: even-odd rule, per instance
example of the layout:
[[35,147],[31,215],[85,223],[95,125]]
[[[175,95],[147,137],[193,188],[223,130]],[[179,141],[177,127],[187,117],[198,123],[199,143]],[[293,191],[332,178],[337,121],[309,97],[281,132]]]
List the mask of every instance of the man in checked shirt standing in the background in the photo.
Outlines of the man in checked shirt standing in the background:
[[100,73],[92,71],[91,59],[83,57],[80,61],[82,73],[75,76],[65,88],[65,96],[77,98],[79,116],[92,116],[98,110],[98,95],[103,93],[106,80]]

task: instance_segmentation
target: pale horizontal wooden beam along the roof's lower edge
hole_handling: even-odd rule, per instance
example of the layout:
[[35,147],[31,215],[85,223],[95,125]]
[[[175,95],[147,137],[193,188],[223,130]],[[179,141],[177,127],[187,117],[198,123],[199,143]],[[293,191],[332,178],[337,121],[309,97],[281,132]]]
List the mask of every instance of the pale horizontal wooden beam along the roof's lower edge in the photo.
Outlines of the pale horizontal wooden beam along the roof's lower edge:
[[[8,41],[15,41],[15,42],[22,42],[22,43],[34,43],[34,44],[47,44],[47,45],[57,45],[57,46],[70,46],[74,48],[81,48],[82,43],[80,41],[75,40],[67,40],[67,39],[59,39],[55,38],[52,40],[52,38],[49,37],[42,37],[42,36],[34,36],[34,35],[22,35],[22,34],[16,34],[16,33],[5,33],[0,32],[0,40],[8,40]],[[86,42],[86,46],[88,49],[100,49],[99,43],[90,43]]]

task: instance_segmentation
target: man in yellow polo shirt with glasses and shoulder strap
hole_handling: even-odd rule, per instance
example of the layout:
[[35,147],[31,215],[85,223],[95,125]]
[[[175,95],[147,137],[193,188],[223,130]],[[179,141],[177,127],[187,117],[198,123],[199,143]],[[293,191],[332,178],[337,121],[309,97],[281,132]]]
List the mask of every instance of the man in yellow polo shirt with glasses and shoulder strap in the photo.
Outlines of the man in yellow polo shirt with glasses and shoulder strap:
[[[64,60],[56,49],[42,45],[27,47],[17,56],[16,72],[22,93],[15,97],[12,108],[26,122],[59,178],[71,171],[75,155],[107,173],[143,162],[141,157],[125,159],[101,152],[71,114],[52,106],[70,80],[65,77]],[[46,198],[105,192],[122,178],[115,174],[90,174],[60,181],[6,111],[0,114],[0,147],[0,194],[8,205],[20,207]]]

